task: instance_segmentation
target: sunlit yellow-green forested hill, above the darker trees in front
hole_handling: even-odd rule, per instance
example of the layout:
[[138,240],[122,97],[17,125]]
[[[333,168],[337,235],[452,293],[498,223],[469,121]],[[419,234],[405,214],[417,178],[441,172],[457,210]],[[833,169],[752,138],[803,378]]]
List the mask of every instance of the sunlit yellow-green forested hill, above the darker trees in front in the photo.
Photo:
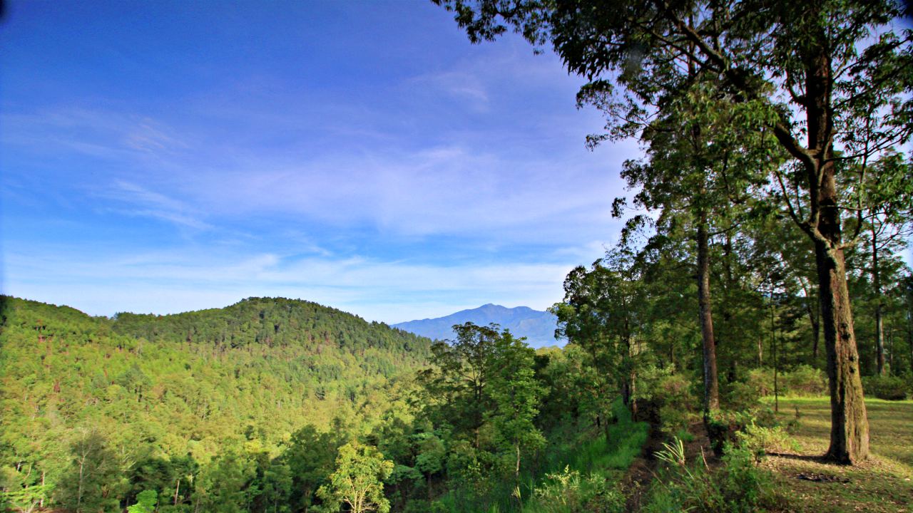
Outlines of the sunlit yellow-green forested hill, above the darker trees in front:
[[108,319],[0,296],[0,310],[0,451],[51,473],[80,430],[205,461],[304,424],[370,426],[430,355],[412,333],[284,298]]

